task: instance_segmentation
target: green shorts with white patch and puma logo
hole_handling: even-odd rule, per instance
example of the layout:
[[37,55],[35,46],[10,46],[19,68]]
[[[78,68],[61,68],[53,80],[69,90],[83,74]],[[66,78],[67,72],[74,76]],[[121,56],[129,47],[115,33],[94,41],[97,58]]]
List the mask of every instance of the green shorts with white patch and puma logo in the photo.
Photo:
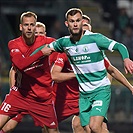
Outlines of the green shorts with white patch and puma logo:
[[82,126],[88,125],[92,116],[102,116],[107,121],[106,114],[110,104],[110,98],[110,86],[101,87],[100,90],[90,94],[89,97],[80,97],[79,116]]

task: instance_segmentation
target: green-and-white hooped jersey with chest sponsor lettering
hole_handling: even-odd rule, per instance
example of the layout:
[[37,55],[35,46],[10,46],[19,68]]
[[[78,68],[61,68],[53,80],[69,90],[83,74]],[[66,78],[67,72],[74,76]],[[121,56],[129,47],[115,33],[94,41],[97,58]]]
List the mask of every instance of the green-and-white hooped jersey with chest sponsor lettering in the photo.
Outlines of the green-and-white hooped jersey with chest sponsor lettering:
[[[113,51],[116,44],[122,45],[102,34],[86,31],[76,43],[71,41],[70,36],[66,36],[52,42],[49,47],[67,54],[79,82],[80,92],[90,93],[97,88],[110,85],[102,50]],[[116,50],[118,49],[116,47]],[[128,57],[128,54],[123,55],[123,58],[125,57]]]

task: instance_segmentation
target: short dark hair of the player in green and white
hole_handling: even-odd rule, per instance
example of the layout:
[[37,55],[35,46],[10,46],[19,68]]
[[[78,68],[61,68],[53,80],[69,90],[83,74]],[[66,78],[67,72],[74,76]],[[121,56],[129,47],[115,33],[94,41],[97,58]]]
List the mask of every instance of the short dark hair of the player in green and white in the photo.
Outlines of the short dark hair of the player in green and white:
[[83,12],[81,11],[81,9],[79,8],[71,8],[69,9],[66,14],[65,14],[65,18],[66,20],[68,19],[68,15],[74,16],[75,14],[80,13],[81,15],[83,15]]

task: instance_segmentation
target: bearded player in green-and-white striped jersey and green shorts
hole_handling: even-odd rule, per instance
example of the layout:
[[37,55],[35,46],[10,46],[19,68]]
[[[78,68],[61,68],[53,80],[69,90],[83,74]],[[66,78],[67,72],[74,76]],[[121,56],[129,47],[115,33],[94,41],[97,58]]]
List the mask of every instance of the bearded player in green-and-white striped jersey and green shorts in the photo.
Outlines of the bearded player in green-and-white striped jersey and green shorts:
[[133,72],[133,62],[126,47],[102,34],[82,30],[82,11],[69,9],[65,24],[70,36],[62,37],[49,45],[57,52],[65,52],[79,82],[80,119],[93,133],[102,132],[102,122],[110,103],[110,81],[101,50],[117,50],[122,55],[126,73]]

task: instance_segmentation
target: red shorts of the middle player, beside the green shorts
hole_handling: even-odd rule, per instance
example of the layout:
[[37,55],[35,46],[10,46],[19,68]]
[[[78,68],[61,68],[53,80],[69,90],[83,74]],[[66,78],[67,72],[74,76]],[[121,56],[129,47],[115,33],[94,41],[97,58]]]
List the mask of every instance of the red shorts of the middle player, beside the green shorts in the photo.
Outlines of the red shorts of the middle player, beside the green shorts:
[[78,100],[55,100],[55,110],[58,122],[72,115],[79,115]]

